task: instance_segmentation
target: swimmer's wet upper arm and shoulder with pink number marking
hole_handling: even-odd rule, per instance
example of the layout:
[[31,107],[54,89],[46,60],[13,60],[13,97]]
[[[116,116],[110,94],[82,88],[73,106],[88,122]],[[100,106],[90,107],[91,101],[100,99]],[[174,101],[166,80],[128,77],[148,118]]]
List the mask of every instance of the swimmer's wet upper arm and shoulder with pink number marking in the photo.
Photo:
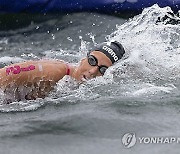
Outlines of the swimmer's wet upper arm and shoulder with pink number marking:
[[[13,71],[12,67],[16,67]],[[10,69],[11,68],[11,69]],[[39,80],[53,80],[58,82],[66,75],[66,64],[57,61],[27,61],[13,64],[0,69],[0,87],[6,87],[13,83],[17,86]]]

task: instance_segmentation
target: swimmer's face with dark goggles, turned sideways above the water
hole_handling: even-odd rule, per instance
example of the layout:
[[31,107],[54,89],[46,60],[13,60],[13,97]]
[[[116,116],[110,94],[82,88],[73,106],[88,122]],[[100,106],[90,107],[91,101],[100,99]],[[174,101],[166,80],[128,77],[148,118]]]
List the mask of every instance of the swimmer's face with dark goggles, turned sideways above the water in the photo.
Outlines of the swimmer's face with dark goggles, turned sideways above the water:
[[112,66],[112,62],[105,54],[93,51],[81,60],[74,77],[79,81],[89,80],[102,76],[110,66]]

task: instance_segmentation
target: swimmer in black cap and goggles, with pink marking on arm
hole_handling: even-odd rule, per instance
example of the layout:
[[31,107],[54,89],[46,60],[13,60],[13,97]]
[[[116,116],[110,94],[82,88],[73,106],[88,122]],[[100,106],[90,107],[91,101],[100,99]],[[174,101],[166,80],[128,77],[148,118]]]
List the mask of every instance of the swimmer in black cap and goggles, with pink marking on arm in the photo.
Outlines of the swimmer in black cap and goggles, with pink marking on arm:
[[56,83],[65,75],[84,82],[102,76],[106,70],[123,57],[125,50],[117,41],[104,42],[88,52],[79,66],[60,60],[26,61],[0,69],[0,87],[3,92],[15,95],[20,101],[21,87],[29,89],[23,96],[26,100],[45,98]]

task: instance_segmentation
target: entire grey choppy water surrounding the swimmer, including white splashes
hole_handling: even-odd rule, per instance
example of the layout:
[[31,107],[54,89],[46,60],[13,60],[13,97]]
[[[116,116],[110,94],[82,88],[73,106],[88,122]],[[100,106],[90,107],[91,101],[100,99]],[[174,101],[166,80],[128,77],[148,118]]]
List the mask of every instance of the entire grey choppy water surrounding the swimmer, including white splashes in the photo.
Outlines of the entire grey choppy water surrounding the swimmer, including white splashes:
[[80,86],[65,77],[45,99],[1,103],[0,153],[178,153],[177,143],[126,149],[121,140],[128,132],[180,137],[180,25],[163,20],[169,11],[155,5],[129,20],[77,13],[0,31],[1,67],[41,58],[78,63],[105,40],[127,51],[103,77]]

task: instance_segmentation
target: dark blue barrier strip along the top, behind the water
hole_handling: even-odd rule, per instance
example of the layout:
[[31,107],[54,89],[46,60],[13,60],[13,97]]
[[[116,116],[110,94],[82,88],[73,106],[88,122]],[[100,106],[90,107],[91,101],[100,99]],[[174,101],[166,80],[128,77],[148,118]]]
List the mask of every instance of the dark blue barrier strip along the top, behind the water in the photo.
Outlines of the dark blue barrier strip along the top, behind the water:
[[139,12],[153,4],[180,8],[180,0],[0,0],[0,13]]

